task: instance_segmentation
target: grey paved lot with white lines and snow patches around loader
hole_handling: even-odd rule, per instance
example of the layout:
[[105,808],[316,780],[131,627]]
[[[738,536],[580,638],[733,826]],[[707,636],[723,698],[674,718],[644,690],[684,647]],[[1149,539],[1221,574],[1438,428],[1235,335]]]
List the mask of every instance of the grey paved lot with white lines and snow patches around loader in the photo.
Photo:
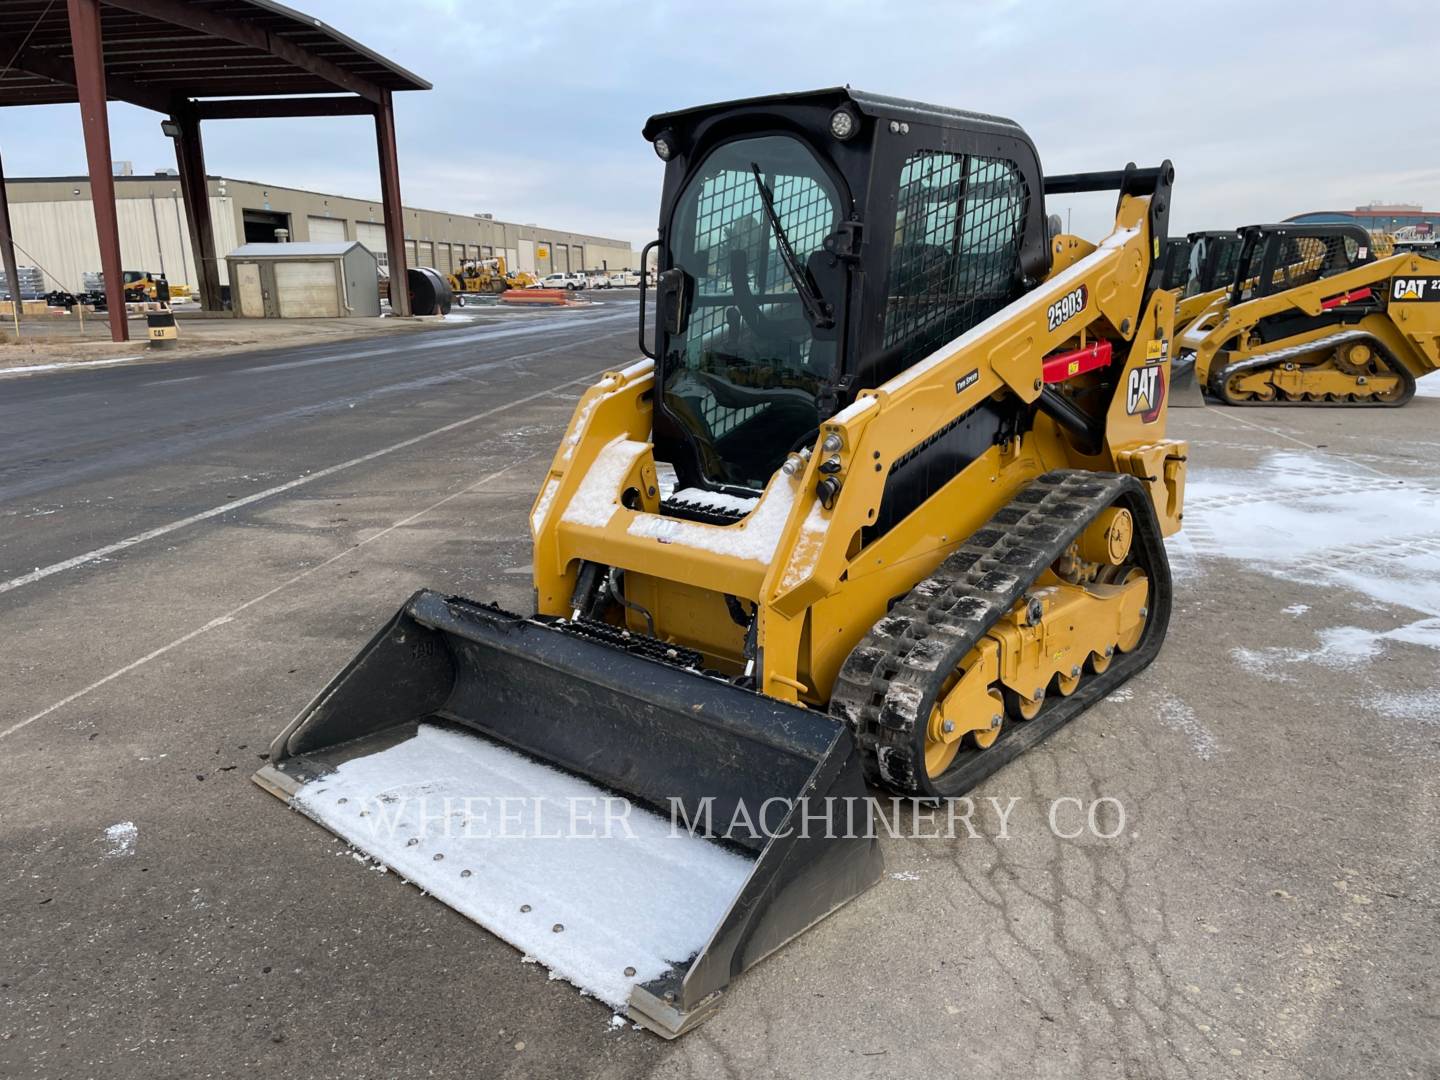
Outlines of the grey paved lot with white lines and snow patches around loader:
[[[536,485],[634,314],[0,383],[0,1073],[1440,1074],[1440,612],[1365,585],[1440,544],[1434,397],[1172,413],[1159,661],[680,1043],[251,785],[415,588],[530,602]],[[1295,573],[1230,543],[1326,498],[1394,526],[1316,516]]]

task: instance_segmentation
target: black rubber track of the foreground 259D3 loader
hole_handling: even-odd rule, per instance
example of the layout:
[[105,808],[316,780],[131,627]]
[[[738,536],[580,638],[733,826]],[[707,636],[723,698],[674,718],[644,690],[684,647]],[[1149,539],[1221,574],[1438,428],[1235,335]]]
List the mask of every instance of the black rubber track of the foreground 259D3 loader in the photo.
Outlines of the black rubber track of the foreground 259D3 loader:
[[[962,749],[955,765],[930,780],[919,747],[945,680],[1084,527],[1117,503],[1135,517],[1132,550],[1151,577],[1149,618],[1138,647],[1116,652],[1103,675],[1086,675],[1070,697],[1048,694],[1035,719],[1007,716],[989,749]],[[831,714],[854,732],[871,783],[899,795],[953,798],[1149,664],[1159,652],[1169,612],[1165,543],[1140,482],[1112,472],[1047,472],[871,628],[835,680]]]

